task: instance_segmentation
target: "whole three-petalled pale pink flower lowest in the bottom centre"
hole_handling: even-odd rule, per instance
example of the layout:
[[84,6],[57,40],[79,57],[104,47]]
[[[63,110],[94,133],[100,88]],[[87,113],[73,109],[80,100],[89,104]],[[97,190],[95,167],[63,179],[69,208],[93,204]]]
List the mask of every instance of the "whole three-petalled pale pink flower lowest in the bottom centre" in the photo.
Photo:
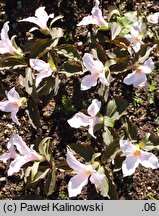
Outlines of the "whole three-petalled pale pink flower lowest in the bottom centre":
[[82,188],[87,185],[88,179],[98,187],[105,181],[106,176],[104,174],[98,173],[92,165],[80,163],[69,148],[67,148],[66,160],[68,165],[77,172],[68,183],[69,197],[75,197],[80,194]]

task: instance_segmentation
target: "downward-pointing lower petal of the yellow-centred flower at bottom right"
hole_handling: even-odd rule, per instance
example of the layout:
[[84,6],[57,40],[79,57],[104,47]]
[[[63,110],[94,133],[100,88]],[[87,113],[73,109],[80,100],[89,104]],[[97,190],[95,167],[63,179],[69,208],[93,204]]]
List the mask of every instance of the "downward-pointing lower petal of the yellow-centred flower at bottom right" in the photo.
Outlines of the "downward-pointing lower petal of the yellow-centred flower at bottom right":
[[122,164],[123,176],[130,176],[135,172],[135,169],[139,165],[138,157],[127,157]]

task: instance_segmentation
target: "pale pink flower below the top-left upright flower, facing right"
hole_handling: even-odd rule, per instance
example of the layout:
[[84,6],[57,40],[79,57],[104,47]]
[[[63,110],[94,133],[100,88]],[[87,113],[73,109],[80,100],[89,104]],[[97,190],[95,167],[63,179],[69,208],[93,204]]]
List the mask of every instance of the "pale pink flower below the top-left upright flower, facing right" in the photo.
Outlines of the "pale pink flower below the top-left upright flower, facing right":
[[38,75],[35,79],[35,85],[36,87],[39,85],[39,83],[42,81],[42,79],[51,76],[52,69],[50,67],[49,63],[46,63],[40,59],[30,59],[30,66],[38,71]]

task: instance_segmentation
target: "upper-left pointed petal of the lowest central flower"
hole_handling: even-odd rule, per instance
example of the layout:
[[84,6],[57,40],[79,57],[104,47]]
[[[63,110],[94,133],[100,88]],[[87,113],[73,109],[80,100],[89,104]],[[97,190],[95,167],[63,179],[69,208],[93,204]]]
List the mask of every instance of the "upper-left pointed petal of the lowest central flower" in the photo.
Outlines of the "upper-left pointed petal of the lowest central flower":
[[72,151],[67,148],[67,155],[66,155],[66,161],[70,168],[72,168],[75,171],[80,171],[85,169],[85,165],[80,163],[75,156],[73,155]]

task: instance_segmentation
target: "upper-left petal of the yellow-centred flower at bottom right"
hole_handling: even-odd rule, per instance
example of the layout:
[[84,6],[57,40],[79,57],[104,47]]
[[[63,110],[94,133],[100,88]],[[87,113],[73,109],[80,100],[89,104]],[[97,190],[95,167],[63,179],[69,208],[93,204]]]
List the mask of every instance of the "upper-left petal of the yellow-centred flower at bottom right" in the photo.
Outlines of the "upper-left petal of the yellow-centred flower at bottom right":
[[136,150],[135,145],[133,145],[130,141],[128,140],[120,140],[119,141],[120,148],[124,152],[126,156],[133,156],[134,151]]

